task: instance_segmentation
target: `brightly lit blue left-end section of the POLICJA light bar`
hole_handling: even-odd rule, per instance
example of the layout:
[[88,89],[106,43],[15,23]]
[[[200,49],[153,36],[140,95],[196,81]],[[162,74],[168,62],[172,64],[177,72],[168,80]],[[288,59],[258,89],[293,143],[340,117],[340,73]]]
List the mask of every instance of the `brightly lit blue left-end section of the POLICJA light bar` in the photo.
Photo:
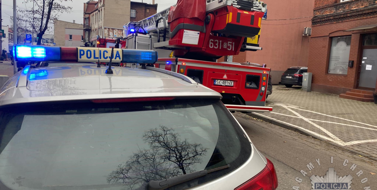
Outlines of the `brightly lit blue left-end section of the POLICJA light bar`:
[[60,47],[15,45],[16,61],[60,61]]

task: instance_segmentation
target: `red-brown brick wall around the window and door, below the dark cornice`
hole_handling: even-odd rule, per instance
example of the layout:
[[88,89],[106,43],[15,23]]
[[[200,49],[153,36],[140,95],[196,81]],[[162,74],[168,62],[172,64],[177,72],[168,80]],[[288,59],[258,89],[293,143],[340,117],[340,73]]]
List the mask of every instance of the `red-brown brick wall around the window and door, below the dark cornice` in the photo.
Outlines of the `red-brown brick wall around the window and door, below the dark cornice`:
[[[361,63],[360,56],[362,55],[362,34],[377,32],[377,29],[349,32],[344,32],[344,30],[372,24],[377,24],[377,17],[313,26],[309,47],[308,72],[313,73],[314,91],[343,93],[347,89],[357,87],[359,65]],[[351,35],[349,60],[354,61],[354,66],[352,68],[348,67],[347,75],[327,74],[331,37],[346,35]]]

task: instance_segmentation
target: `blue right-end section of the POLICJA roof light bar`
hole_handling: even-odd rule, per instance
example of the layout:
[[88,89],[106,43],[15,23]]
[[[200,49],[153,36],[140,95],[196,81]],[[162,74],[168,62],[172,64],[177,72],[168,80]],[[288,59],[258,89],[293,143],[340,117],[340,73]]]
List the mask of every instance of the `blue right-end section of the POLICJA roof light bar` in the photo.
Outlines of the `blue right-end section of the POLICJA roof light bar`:
[[155,63],[157,58],[153,50],[123,49],[122,63]]

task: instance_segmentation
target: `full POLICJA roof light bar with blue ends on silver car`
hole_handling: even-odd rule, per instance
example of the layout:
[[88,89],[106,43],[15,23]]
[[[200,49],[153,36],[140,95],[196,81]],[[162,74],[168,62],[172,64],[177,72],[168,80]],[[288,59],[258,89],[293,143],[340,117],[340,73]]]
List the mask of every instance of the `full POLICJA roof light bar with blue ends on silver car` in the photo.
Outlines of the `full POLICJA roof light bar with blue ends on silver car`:
[[[109,63],[110,48],[28,46],[13,47],[16,61],[69,61]],[[153,50],[114,49],[113,63],[155,63],[158,54]]]

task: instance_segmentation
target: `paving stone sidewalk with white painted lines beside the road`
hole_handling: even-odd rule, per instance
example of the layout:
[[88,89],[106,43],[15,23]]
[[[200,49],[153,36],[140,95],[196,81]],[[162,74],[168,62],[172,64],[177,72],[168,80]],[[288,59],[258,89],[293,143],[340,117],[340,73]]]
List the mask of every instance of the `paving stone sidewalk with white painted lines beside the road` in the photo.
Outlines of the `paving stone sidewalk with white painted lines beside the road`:
[[254,116],[377,159],[377,104],[276,85],[266,105],[273,112]]

